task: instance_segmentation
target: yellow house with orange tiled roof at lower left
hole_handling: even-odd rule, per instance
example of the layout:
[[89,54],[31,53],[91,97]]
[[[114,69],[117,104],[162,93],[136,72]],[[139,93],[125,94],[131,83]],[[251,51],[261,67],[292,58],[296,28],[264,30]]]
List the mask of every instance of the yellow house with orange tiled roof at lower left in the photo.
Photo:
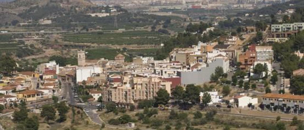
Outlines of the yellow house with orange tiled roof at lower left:
[[25,90],[19,92],[17,95],[17,98],[19,101],[41,101],[45,99],[49,99],[50,95],[45,95],[43,91],[38,90]]

